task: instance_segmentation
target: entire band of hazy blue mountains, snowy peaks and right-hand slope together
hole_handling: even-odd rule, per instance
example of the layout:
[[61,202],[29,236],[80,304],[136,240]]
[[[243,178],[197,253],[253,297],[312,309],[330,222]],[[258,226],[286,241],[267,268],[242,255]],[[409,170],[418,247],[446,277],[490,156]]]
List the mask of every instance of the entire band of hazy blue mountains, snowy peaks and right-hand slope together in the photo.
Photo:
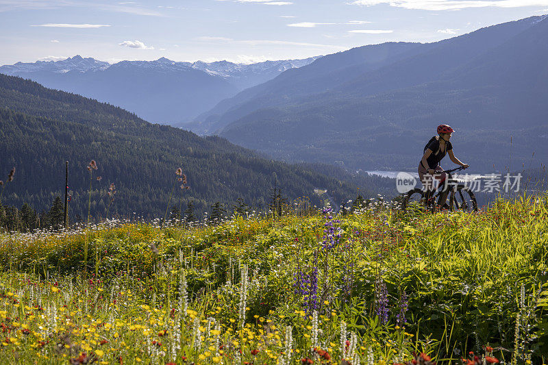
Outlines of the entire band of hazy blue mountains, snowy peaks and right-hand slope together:
[[306,60],[110,65],[75,56],[0,73],[277,160],[347,171],[414,171],[436,125],[446,123],[457,130],[457,157],[486,173],[548,162],[547,64],[548,17],[533,16],[440,42],[388,42]]

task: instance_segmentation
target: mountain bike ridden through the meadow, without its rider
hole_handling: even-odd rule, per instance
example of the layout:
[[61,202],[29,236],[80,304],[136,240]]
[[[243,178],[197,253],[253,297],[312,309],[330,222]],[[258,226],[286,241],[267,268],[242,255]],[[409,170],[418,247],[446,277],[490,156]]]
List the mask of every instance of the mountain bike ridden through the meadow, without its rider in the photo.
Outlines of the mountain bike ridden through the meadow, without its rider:
[[[436,171],[436,174],[447,174],[445,179],[440,181],[438,189],[426,192],[420,188],[410,190],[403,199],[403,210],[426,210],[432,213],[443,209],[448,209],[450,212],[477,212],[477,202],[472,190],[466,188],[464,184],[459,184],[456,179],[453,179],[453,175],[451,175],[451,173],[460,170],[464,170],[464,167],[460,166],[447,171]],[[448,194],[451,194],[449,203],[445,203],[445,205],[440,207],[436,203],[436,198],[441,197],[442,201],[447,201]]]

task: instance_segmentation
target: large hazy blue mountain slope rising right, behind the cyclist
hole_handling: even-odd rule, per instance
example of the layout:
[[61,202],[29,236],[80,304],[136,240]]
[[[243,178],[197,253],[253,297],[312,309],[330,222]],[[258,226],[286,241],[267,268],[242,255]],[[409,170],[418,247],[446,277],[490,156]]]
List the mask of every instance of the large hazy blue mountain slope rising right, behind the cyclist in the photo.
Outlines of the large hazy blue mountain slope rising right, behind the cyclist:
[[533,16],[435,43],[326,55],[190,126],[280,160],[397,170],[415,169],[447,123],[455,154],[477,171],[538,166],[548,162],[547,64],[548,18]]

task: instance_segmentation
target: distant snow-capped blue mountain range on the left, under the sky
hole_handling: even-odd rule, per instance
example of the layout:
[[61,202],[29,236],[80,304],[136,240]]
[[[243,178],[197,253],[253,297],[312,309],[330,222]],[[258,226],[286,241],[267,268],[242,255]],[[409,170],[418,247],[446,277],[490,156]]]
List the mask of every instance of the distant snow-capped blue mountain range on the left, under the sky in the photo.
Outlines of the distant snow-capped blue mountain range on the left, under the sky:
[[256,64],[160,58],[109,64],[76,55],[61,61],[0,66],[0,73],[120,106],[147,121],[177,125],[206,112],[222,99],[316,58]]

